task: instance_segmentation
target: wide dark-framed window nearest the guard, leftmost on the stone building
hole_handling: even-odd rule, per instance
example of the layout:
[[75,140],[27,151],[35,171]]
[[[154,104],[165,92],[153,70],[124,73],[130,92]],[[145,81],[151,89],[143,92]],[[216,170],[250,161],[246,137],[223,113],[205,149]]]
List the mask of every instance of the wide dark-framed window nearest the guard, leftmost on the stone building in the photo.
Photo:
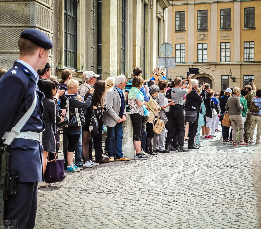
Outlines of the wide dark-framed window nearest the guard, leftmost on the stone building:
[[77,69],[76,65],[76,0],[64,1],[64,66]]

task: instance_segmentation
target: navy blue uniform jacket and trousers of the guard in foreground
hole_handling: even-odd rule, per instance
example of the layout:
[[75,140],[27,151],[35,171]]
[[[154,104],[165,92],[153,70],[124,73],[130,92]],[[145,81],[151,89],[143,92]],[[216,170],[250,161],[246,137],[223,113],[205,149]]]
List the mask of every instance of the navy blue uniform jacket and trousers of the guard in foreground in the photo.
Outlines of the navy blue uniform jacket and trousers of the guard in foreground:
[[[36,84],[35,75],[25,65],[15,62],[14,67],[0,79],[0,139],[10,131],[31,107],[37,93],[36,107],[21,132],[41,132],[44,95]],[[10,95],[10,89],[12,96]],[[10,105],[11,104],[11,105]],[[39,141],[15,138],[8,147],[10,172],[17,173],[17,194],[5,201],[5,220],[18,220],[19,229],[32,229],[37,208],[37,184],[43,182],[43,146]]]

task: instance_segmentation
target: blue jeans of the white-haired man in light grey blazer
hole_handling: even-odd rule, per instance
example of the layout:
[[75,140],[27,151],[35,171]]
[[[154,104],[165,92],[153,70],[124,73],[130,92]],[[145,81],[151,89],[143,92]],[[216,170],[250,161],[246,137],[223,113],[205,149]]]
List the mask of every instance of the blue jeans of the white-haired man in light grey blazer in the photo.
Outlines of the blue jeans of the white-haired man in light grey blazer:
[[114,127],[107,126],[107,139],[108,139],[108,153],[109,157],[114,157],[116,154],[116,159],[122,158],[122,122],[117,123]]

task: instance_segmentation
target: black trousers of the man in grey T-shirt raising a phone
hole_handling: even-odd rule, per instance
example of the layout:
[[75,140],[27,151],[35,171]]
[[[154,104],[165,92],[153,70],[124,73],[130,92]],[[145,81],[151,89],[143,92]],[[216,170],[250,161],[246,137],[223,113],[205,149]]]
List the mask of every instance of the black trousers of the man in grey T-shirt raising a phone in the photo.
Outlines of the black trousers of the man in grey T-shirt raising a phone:
[[184,106],[173,105],[170,116],[170,130],[168,130],[166,146],[173,146],[173,148],[183,147],[185,136]]

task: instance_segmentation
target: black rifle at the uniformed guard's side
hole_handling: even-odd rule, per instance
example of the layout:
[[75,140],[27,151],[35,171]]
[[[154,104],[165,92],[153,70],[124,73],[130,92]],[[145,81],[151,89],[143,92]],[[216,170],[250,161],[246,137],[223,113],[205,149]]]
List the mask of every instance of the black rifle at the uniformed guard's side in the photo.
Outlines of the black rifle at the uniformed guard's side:
[[10,156],[7,145],[0,145],[0,220],[4,220],[5,200],[9,195],[16,195],[17,174],[10,173]]

